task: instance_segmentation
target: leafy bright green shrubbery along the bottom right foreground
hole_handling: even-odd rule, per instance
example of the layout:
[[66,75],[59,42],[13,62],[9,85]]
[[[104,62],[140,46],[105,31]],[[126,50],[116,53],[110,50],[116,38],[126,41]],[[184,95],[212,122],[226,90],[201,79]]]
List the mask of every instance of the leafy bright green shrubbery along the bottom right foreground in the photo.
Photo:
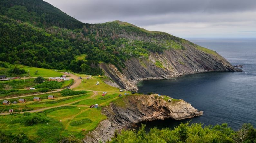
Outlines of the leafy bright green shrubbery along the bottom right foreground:
[[249,123],[239,131],[229,128],[226,123],[203,127],[200,123],[181,123],[175,129],[152,128],[147,133],[145,125],[139,131],[126,130],[115,133],[108,143],[255,143],[256,130]]

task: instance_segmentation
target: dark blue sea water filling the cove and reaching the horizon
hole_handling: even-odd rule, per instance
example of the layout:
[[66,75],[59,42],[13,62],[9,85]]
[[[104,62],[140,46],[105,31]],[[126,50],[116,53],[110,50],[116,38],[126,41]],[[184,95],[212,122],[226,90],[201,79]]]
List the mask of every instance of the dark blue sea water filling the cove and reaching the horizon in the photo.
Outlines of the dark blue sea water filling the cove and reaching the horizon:
[[141,82],[139,92],[154,92],[183,99],[204,115],[192,119],[147,122],[147,128],[174,127],[180,122],[216,125],[228,123],[238,129],[242,123],[256,127],[256,39],[191,39],[212,49],[232,65],[242,64],[244,72],[209,72],[170,80]]

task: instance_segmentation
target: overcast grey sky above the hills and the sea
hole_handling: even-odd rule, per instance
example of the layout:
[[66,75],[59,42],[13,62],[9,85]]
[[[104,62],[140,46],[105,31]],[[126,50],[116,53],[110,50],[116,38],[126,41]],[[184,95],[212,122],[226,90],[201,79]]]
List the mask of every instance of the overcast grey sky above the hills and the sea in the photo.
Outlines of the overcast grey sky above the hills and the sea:
[[44,1],[84,23],[120,20],[182,38],[256,38],[256,0]]

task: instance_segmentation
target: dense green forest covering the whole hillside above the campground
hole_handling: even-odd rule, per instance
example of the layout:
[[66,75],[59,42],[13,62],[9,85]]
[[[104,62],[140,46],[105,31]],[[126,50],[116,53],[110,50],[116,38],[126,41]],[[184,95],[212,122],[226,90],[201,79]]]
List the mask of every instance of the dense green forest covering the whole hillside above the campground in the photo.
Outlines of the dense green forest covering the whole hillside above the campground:
[[[131,57],[182,49],[183,39],[113,21],[85,24],[42,0],[0,2],[0,61],[85,74],[103,74],[99,63],[121,71]],[[85,54],[77,60],[76,55]]]

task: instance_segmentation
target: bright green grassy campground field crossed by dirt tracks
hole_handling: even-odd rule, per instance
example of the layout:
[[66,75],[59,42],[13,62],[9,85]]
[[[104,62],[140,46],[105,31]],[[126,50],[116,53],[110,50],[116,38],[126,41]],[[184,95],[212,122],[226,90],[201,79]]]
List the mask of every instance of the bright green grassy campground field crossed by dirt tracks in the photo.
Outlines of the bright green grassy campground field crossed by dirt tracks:
[[[31,113],[29,116],[23,114],[0,116],[0,131],[5,133],[23,132],[35,142],[42,143],[57,142],[59,138],[70,135],[82,139],[86,133],[94,130],[102,120],[107,119],[105,115],[101,114],[102,107],[109,105],[109,103],[116,99],[121,99],[118,97],[120,93],[130,94],[130,91],[119,92],[118,88],[105,84],[104,80],[108,80],[106,77],[93,76],[87,80],[87,75],[77,76],[81,76],[83,81],[74,90],[92,91],[73,96],[62,96],[60,92],[46,93],[36,96],[42,98],[40,102],[33,101],[34,96],[27,96],[23,97],[23,99],[27,100],[24,104],[0,105],[0,112],[2,113],[7,112],[9,109],[19,112],[44,109],[46,107],[50,108],[42,112]],[[34,84],[32,81],[32,79],[27,80],[27,83],[19,81],[19,84],[10,84],[9,87],[24,88],[26,86],[32,86]],[[99,85],[96,85],[97,81]],[[12,83],[12,81],[9,82]],[[70,83],[72,83],[71,80],[65,81],[62,87],[68,86]],[[6,85],[2,85],[1,87],[4,88]],[[108,93],[102,96],[103,91]],[[48,95],[54,95],[57,99],[47,99]],[[10,99],[10,101],[17,101],[18,99],[14,98]],[[99,104],[99,107],[90,108],[89,106],[92,104]],[[27,118],[34,116],[43,118],[41,120],[42,123],[40,122],[31,126],[26,125]]]

